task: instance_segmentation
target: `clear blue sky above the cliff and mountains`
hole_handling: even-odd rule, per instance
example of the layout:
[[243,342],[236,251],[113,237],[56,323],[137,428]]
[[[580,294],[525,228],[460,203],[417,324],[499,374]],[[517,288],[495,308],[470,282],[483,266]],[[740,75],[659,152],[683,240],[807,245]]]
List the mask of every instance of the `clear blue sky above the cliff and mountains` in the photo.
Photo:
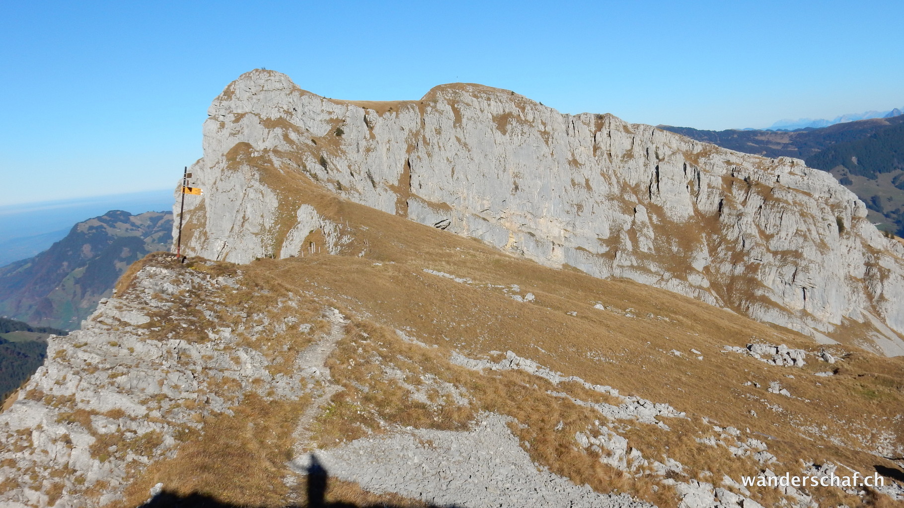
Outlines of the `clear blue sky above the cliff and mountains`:
[[904,105],[902,22],[900,1],[4,2],[0,205],[174,186],[211,100],[256,67],[338,99],[467,81],[766,127]]

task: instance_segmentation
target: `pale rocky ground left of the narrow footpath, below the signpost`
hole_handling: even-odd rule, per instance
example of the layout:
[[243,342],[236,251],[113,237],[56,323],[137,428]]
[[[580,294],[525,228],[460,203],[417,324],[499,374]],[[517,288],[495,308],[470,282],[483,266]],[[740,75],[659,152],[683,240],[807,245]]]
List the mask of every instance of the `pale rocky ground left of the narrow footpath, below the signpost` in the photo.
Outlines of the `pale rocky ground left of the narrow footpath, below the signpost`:
[[[174,331],[198,326],[196,316],[178,310],[186,291],[231,291],[234,278],[151,266],[136,280],[126,297],[102,300],[80,330],[52,336],[50,360],[0,414],[0,504],[121,501],[137,475],[174,458],[205,419],[231,415],[257,391],[268,400],[304,394],[303,372],[272,375],[265,355],[242,343],[265,329],[272,334],[266,315],[246,315],[249,329],[221,326],[176,338],[185,334]],[[196,310],[215,320],[221,303],[212,298]]]

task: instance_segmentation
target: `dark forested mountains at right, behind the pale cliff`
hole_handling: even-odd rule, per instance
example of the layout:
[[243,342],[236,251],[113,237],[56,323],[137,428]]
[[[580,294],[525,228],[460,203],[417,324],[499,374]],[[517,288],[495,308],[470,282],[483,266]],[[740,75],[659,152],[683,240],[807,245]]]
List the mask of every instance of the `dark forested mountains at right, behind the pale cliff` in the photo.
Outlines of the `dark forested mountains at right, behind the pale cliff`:
[[794,132],[657,127],[748,154],[804,159],[806,165],[833,174],[866,202],[870,220],[881,229],[904,236],[902,115]]

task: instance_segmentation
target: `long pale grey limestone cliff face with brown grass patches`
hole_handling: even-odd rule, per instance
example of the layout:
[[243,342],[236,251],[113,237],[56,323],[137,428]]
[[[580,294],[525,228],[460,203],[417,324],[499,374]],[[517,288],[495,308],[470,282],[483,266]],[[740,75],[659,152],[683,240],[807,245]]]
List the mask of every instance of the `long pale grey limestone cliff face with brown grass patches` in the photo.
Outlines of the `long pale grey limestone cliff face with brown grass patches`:
[[340,225],[293,186],[314,181],[544,265],[663,287],[820,342],[858,329],[871,349],[904,354],[904,247],[797,159],[474,84],[340,101],[259,70],[213,101],[203,148],[191,171],[204,194],[185,204],[192,254],[244,263],[312,241],[342,249]]

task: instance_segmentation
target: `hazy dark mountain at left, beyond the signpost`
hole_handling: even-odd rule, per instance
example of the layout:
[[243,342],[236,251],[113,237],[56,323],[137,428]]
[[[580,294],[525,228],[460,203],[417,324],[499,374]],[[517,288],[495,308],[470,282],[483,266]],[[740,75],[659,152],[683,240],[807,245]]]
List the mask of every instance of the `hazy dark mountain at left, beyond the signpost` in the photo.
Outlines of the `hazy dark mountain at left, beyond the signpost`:
[[0,315],[72,330],[110,296],[128,265],[169,249],[173,214],[110,211],[83,221],[50,249],[0,268]]

